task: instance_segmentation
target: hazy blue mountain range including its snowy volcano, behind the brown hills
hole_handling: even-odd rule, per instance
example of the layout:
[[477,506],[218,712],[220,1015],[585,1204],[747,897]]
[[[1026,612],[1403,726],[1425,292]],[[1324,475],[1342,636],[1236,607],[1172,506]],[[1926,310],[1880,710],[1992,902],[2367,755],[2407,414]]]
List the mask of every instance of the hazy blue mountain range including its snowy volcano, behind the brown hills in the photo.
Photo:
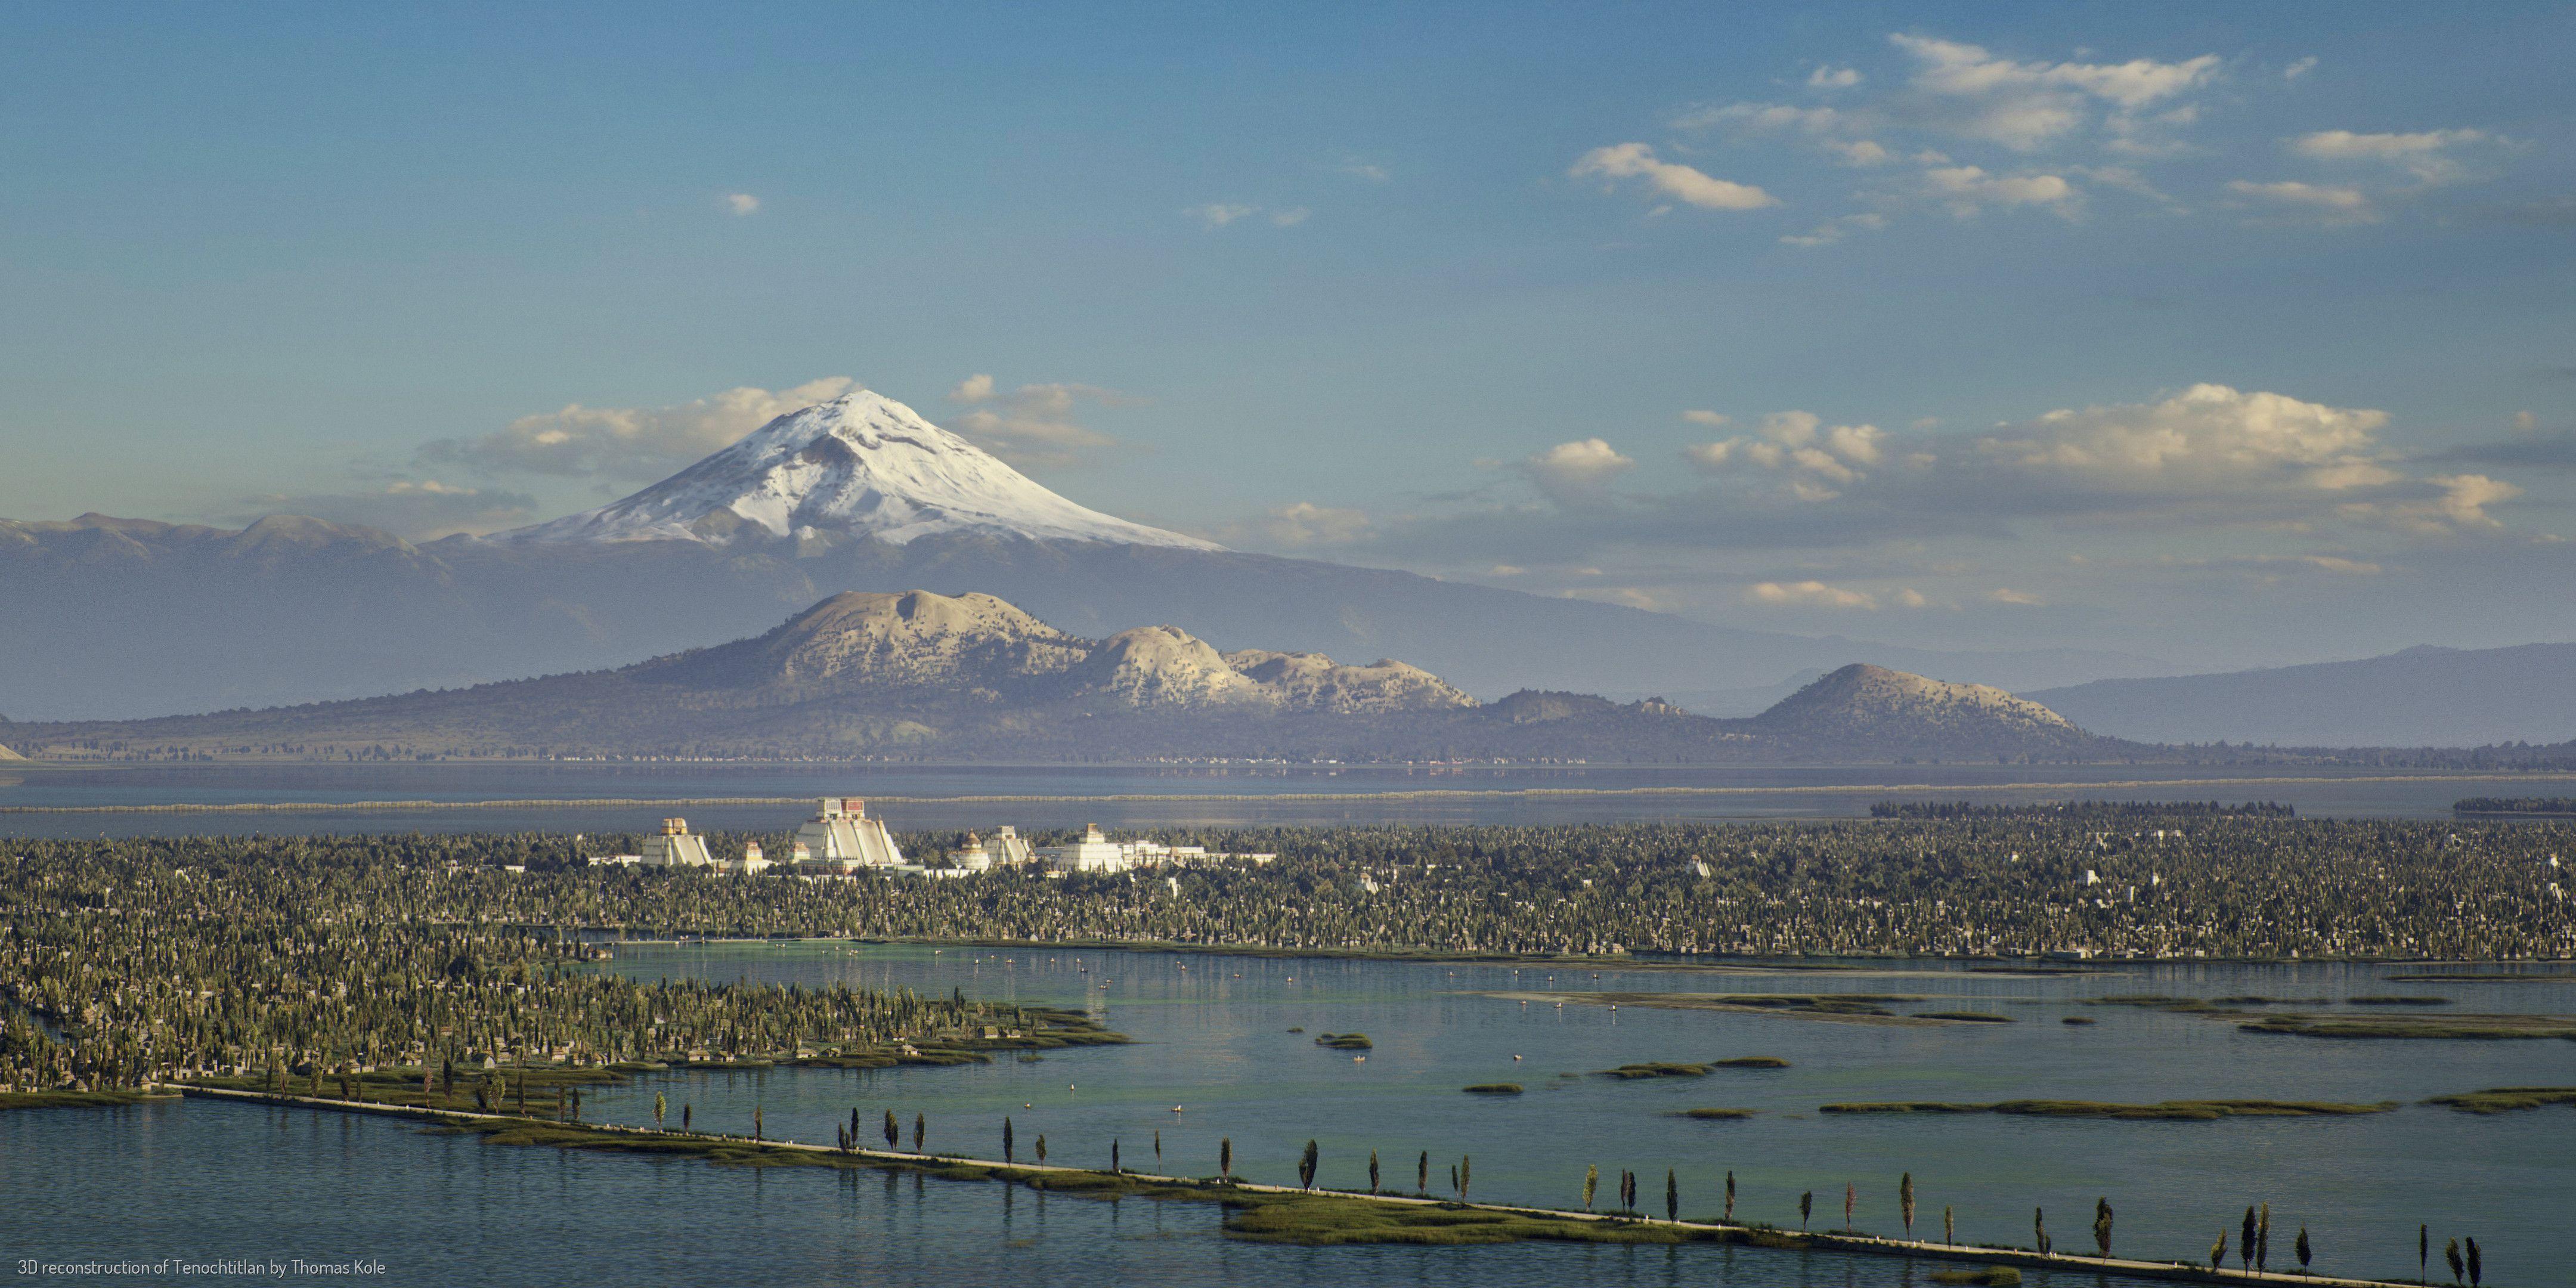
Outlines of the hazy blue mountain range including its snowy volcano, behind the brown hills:
[[0,520],[0,714],[124,719],[621,667],[842,590],[992,592],[1066,631],[1394,654],[1466,693],[1741,690],[1844,662],[2045,688],[2164,675],[2079,649],[1935,652],[1218,549],[1084,510],[858,392],[582,515],[410,544],[270,515]]

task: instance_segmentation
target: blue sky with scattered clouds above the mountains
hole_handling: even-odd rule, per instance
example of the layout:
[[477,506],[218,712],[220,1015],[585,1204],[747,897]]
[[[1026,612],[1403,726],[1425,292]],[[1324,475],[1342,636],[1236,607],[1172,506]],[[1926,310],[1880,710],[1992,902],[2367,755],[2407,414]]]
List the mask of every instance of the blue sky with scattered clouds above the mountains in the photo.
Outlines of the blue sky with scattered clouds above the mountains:
[[1705,621],[2576,639],[2568,64],[2566,5],[21,5],[0,515],[482,531],[860,381]]

